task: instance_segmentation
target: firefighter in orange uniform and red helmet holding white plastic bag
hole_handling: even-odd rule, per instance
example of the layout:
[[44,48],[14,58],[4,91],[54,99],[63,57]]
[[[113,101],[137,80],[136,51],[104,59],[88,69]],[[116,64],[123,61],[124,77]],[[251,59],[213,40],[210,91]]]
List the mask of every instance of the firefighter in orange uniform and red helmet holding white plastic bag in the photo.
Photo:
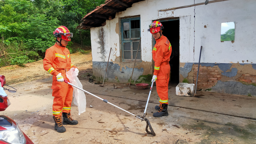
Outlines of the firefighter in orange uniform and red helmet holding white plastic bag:
[[[54,129],[57,132],[65,132],[66,128],[63,125],[76,125],[77,120],[71,118],[70,109],[73,97],[73,87],[69,84],[62,83],[64,78],[69,82],[66,72],[71,68],[77,67],[71,63],[70,52],[66,46],[73,37],[67,27],[60,26],[54,32],[55,45],[48,48],[45,52],[43,60],[44,69],[53,75],[53,119],[55,121]],[[63,116],[63,121],[61,119]]]

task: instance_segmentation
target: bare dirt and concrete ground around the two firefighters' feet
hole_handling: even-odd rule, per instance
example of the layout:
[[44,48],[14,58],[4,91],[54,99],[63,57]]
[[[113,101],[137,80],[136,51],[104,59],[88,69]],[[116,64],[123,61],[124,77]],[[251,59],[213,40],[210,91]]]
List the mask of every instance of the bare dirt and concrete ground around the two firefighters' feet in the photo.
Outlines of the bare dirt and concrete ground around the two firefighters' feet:
[[[113,83],[105,82],[104,87],[89,83],[91,54],[71,54],[71,60],[79,68],[83,89],[135,115],[143,115],[149,89],[138,90],[134,85],[131,89],[114,89]],[[146,133],[145,121],[85,93],[86,112],[78,115],[77,106],[73,102],[71,105],[72,118],[79,124],[65,125],[67,131],[58,133],[52,118],[52,75],[43,69],[43,61],[28,63],[26,67],[3,67],[0,74],[18,90],[6,91],[12,104],[0,114],[14,119],[35,144],[256,144],[253,97],[207,92],[201,92],[205,97],[200,99],[177,97],[174,85],[169,88],[169,116],[155,118],[152,115],[158,95],[153,88],[147,108],[147,118],[156,133],[153,136]],[[243,114],[251,119],[239,116]]]

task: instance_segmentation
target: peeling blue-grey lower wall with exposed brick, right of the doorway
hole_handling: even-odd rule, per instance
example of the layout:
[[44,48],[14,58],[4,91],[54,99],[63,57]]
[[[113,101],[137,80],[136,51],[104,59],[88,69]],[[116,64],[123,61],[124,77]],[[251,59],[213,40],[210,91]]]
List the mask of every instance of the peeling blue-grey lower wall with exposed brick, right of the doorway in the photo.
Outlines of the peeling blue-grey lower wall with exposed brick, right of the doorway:
[[[256,64],[200,63],[197,89],[218,93],[256,96]],[[196,84],[198,63],[184,63],[182,80]]]

